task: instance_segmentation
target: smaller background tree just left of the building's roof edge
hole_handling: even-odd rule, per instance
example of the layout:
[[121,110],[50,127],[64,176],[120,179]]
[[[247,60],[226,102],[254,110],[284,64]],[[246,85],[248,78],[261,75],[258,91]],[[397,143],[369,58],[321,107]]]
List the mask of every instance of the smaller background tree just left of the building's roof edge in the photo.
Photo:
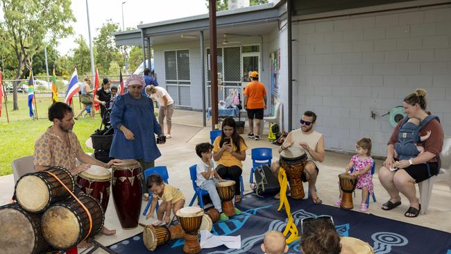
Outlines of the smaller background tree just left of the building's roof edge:
[[99,74],[107,74],[110,69],[110,63],[113,61],[119,62],[120,66],[124,65],[119,47],[115,45],[112,35],[116,31],[119,31],[119,24],[112,23],[111,19],[109,19],[106,23],[103,23],[99,30],[99,35],[94,38],[94,46],[97,51],[96,66],[99,68]]

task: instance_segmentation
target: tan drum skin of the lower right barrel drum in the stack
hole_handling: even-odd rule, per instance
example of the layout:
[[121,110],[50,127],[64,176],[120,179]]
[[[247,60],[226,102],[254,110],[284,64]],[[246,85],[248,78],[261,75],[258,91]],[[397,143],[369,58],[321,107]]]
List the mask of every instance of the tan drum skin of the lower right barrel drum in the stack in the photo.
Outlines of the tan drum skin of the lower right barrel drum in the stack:
[[42,233],[52,246],[68,248],[77,244],[78,238],[81,237],[80,222],[69,208],[54,205],[42,215]]

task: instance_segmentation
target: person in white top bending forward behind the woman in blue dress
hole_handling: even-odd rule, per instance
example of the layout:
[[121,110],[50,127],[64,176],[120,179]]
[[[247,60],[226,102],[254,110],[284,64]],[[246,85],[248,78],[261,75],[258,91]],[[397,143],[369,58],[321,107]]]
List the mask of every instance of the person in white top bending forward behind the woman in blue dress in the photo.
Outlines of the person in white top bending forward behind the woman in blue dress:
[[160,123],[161,131],[164,134],[164,117],[166,117],[167,135],[166,138],[171,138],[172,128],[172,114],[174,112],[174,100],[171,95],[163,87],[155,87],[154,85],[146,86],[146,94],[160,105],[158,111],[158,123]]

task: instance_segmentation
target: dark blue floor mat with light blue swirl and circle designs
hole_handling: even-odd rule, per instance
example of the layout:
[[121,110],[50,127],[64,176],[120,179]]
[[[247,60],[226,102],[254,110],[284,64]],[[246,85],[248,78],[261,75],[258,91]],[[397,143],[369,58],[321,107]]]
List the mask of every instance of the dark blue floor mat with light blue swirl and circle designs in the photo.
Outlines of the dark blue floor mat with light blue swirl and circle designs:
[[[373,246],[376,254],[385,253],[443,253],[451,254],[451,234],[422,226],[377,217],[352,210],[342,210],[330,205],[314,205],[310,199],[295,201],[289,198],[293,219],[300,232],[300,219],[330,215],[340,236],[357,237]],[[283,231],[287,223],[284,210],[277,211],[279,202],[273,198],[259,198],[254,194],[244,196],[237,208],[240,215],[228,221],[214,223],[214,235],[241,235],[241,248],[226,246],[203,249],[201,253],[262,253],[265,232]],[[171,240],[158,246],[154,253],[182,253],[183,239]],[[108,246],[116,253],[149,253],[142,233]],[[288,253],[300,253],[299,241],[289,245]]]

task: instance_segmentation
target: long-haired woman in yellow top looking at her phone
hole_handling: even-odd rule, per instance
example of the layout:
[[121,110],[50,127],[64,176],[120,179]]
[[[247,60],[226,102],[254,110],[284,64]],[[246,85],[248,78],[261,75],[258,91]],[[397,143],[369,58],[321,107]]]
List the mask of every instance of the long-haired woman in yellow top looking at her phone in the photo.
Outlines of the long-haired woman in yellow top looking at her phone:
[[227,117],[222,123],[222,135],[214,139],[213,159],[218,165],[216,171],[221,178],[235,181],[235,202],[241,201],[239,176],[243,173],[242,161],[246,160],[246,143],[238,135],[235,120]]

